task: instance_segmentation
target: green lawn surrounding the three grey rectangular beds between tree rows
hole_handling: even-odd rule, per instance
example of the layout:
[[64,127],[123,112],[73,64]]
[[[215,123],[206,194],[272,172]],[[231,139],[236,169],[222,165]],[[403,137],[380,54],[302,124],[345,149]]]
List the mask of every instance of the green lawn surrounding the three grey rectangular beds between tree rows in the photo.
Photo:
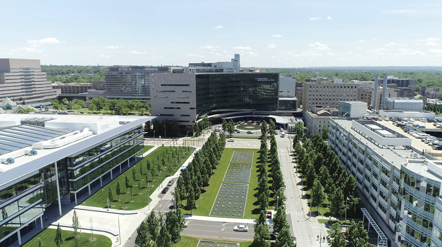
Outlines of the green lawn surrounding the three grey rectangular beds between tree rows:
[[[257,219],[259,216],[258,208],[259,204],[257,203],[257,197],[255,197],[255,193],[257,192],[256,188],[258,187],[258,168],[257,168],[257,160],[259,157],[259,149],[249,149],[249,148],[226,148],[221,156],[221,160],[217,166],[217,169],[214,170],[215,174],[209,180],[209,187],[206,187],[206,192],[200,195],[200,198],[196,201],[196,205],[198,207],[195,210],[192,210],[193,215],[199,216],[209,216],[210,211],[212,209],[213,202],[215,201],[216,195],[218,194],[218,190],[221,186],[224,175],[229,166],[230,159],[233,155],[233,151],[254,151],[253,154],[253,163],[252,163],[252,172],[250,175],[249,181],[249,190],[247,193],[246,200],[246,209],[244,213],[245,219]],[[270,184],[269,184],[270,186]],[[272,205],[272,198],[269,198],[269,204]],[[182,200],[182,203],[186,205],[186,200]],[[269,207],[269,209],[273,209],[274,207]],[[190,211],[183,210],[185,213],[190,213]]]

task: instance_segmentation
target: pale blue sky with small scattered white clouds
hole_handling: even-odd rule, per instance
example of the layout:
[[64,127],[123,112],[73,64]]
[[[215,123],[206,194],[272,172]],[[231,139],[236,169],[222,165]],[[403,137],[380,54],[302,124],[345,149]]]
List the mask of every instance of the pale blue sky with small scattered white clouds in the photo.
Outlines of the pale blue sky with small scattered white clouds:
[[45,65],[442,66],[440,0],[4,0],[0,26]]

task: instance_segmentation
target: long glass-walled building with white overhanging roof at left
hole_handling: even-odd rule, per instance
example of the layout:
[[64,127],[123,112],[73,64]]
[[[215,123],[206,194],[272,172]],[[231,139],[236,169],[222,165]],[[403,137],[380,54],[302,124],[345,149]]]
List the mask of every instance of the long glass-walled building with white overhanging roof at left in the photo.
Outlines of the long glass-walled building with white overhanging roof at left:
[[0,246],[21,244],[51,204],[62,215],[134,164],[152,118],[0,115]]

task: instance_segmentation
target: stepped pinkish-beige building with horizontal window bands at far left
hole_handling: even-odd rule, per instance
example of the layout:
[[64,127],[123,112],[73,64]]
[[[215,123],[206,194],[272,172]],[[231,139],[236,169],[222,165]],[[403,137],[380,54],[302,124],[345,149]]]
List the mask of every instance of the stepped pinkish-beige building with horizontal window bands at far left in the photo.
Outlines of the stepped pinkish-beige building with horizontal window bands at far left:
[[0,59],[0,100],[8,97],[17,104],[49,102],[57,98],[51,82],[42,72],[40,60]]

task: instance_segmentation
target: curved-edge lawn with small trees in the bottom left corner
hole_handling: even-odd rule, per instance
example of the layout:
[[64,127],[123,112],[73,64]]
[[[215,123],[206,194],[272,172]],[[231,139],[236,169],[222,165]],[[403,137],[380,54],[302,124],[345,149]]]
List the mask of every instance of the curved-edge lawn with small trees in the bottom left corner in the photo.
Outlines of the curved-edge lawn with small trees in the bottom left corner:
[[[37,247],[38,241],[42,241],[42,243],[45,245],[45,247],[57,247],[55,244],[55,234],[57,230],[46,228],[41,233],[33,237],[31,240],[27,241],[23,247]],[[62,230],[62,236],[63,236],[63,247],[73,247],[75,246],[75,240],[72,238],[73,231],[65,231]],[[94,238],[97,238],[95,241],[91,242],[89,239],[92,238],[92,234],[90,233],[80,233],[80,243],[78,246],[91,246],[91,247],[107,247],[112,246],[112,241],[110,238],[98,235],[94,233]]]

